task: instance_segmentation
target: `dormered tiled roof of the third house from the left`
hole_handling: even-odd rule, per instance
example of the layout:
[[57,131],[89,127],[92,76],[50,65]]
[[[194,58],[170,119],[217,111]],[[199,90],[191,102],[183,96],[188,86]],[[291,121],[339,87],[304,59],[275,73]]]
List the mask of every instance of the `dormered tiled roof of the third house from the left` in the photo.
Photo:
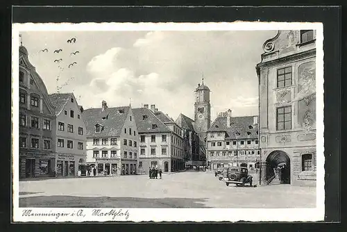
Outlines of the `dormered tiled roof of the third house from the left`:
[[[83,120],[85,122],[86,136],[90,137],[112,137],[119,136],[129,113],[129,106],[106,108],[104,112],[101,108],[90,108],[83,111]],[[124,110],[124,113],[119,113]],[[108,115],[108,119],[102,117]],[[103,125],[101,133],[95,133],[95,125]]]

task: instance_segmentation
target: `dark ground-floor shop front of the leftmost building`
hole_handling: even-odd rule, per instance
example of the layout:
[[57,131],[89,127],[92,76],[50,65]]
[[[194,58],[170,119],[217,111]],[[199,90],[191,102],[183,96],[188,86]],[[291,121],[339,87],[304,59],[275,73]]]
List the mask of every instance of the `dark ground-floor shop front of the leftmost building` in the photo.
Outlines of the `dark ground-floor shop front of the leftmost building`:
[[54,176],[55,155],[48,153],[20,153],[19,178]]

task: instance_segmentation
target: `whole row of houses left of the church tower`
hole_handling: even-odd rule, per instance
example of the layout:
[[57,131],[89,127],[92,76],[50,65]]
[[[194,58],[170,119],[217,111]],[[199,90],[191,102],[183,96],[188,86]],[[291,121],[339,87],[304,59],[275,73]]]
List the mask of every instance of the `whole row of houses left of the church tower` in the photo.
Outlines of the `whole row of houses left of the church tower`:
[[192,119],[152,104],[84,110],[73,93],[49,94],[19,47],[19,176],[142,174],[184,169],[198,155]]

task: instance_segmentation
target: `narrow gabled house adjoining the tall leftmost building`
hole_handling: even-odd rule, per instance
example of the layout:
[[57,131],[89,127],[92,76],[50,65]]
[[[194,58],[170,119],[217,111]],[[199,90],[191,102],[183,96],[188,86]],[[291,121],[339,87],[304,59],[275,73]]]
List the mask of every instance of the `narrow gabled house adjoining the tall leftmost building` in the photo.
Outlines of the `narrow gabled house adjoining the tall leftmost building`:
[[85,124],[80,106],[73,93],[49,95],[56,107],[56,174],[57,176],[85,176]]

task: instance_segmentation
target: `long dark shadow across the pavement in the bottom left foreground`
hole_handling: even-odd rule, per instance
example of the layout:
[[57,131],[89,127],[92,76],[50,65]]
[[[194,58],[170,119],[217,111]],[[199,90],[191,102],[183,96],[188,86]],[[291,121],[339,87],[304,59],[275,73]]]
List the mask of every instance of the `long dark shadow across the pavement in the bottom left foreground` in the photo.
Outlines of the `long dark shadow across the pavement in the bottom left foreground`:
[[19,199],[19,207],[54,208],[210,208],[192,198],[42,196]]

